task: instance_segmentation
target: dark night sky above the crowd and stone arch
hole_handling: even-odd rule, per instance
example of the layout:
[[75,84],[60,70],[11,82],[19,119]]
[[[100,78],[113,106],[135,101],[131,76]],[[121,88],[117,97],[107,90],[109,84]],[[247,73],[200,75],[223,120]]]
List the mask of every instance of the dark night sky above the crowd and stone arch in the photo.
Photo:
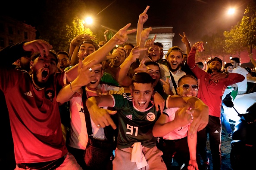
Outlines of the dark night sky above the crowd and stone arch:
[[[241,21],[244,10],[251,0],[84,0],[89,13],[96,18],[98,25],[119,30],[131,23],[137,27],[140,13],[149,5],[148,20],[144,27],[172,26],[173,46],[185,48],[178,33],[185,31],[190,44],[200,41],[203,35],[211,35],[217,30],[230,30],[231,26]],[[38,1],[39,2],[39,1]],[[25,0],[1,5],[1,13],[9,13],[20,20],[27,21],[33,26],[31,15],[37,15],[36,0]],[[8,4],[9,3],[9,4]],[[109,5],[111,4],[111,5]],[[108,7],[107,7],[108,6]],[[107,8],[106,8],[107,7]],[[234,15],[227,15],[230,7],[236,8]],[[105,9],[106,8],[106,9]],[[103,10],[104,9],[104,10]],[[34,13],[31,14],[31,11]],[[104,30],[103,30],[104,31]]]

